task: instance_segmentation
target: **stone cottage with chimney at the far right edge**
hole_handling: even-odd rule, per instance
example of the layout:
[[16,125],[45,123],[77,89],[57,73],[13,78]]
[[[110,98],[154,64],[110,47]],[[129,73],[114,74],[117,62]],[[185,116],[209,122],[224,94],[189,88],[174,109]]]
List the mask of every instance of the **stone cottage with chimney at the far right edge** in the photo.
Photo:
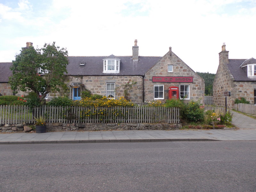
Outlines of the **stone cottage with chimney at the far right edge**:
[[213,81],[213,102],[216,106],[225,106],[224,92],[230,92],[228,108],[233,108],[235,99],[241,97],[256,104],[256,60],[229,59],[225,44],[219,53],[219,67]]

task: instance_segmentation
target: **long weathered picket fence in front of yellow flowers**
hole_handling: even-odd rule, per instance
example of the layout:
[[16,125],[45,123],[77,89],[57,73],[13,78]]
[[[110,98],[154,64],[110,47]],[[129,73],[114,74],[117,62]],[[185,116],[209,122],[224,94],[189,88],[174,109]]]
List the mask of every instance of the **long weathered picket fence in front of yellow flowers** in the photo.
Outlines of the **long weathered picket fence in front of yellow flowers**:
[[0,124],[35,124],[44,116],[46,123],[168,123],[180,124],[180,108],[166,107],[81,107],[1,105]]

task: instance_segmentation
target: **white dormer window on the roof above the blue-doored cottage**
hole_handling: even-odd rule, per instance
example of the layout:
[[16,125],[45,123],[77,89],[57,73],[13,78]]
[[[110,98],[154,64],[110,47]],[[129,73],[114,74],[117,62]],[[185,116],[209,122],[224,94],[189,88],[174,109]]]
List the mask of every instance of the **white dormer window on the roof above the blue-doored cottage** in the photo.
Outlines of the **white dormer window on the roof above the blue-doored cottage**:
[[120,59],[114,55],[110,55],[108,58],[103,59],[103,73],[119,73]]

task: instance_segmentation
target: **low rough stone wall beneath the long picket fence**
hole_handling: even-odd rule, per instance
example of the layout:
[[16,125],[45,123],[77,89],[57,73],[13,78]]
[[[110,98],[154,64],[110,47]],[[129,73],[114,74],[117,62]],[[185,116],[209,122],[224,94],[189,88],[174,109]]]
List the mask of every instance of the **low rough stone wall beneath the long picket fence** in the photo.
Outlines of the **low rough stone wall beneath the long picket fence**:
[[[139,124],[139,123],[120,123],[120,124],[81,124],[81,123],[48,123],[46,124],[47,132],[54,131],[99,131],[99,130],[175,130],[181,128],[181,124]],[[11,132],[35,132],[26,124],[0,124],[0,132],[11,133]]]

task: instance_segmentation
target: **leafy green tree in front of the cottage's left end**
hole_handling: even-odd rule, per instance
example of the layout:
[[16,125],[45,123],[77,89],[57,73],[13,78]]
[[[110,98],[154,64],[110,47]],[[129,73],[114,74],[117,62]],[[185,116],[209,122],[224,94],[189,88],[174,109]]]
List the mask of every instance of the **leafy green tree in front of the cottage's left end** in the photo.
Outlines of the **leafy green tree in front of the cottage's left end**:
[[44,44],[43,48],[33,46],[22,48],[12,61],[12,76],[9,83],[12,90],[33,91],[41,102],[46,94],[60,91],[64,73],[67,73],[68,51],[53,44]]

